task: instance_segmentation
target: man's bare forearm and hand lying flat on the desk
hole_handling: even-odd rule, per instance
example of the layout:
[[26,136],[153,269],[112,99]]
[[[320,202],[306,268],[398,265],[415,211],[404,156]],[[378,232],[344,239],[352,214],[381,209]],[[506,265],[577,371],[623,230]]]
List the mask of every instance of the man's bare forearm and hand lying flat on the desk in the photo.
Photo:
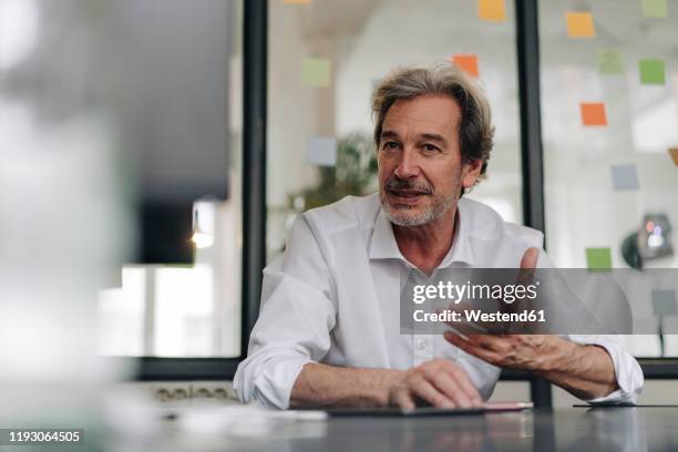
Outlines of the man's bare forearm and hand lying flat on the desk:
[[290,396],[291,407],[414,408],[477,407],[482,400],[466,373],[446,360],[427,361],[409,370],[304,366]]

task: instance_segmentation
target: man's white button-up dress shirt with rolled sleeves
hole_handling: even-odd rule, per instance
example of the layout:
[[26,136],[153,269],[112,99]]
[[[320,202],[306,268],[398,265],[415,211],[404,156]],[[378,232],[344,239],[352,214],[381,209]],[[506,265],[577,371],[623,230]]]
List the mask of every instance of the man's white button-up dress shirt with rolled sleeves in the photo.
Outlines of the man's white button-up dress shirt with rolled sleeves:
[[[454,243],[440,267],[516,268],[542,233],[504,220],[489,206],[461,198]],[[480,394],[492,394],[501,369],[440,335],[400,331],[402,256],[379,195],[348,196],[296,219],[285,253],[264,269],[259,318],[234,378],[243,402],[288,408],[308,362],[409,369],[433,358],[462,367]],[[551,267],[542,251],[540,267]],[[619,389],[589,402],[635,403],[643,388],[638,362],[614,336],[569,336],[604,347]]]

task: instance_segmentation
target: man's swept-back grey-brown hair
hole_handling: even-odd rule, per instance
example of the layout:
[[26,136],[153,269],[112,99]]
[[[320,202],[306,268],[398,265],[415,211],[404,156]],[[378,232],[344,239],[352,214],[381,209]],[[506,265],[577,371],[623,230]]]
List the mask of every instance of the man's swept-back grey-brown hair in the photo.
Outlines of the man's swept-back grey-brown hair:
[[372,94],[377,148],[381,141],[383,120],[391,105],[399,100],[428,94],[446,95],[458,103],[461,109],[458,132],[462,162],[482,161],[481,175],[485,174],[494,144],[494,126],[487,96],[475,80],[448,62],[428,68],[399,68],[379,82]]

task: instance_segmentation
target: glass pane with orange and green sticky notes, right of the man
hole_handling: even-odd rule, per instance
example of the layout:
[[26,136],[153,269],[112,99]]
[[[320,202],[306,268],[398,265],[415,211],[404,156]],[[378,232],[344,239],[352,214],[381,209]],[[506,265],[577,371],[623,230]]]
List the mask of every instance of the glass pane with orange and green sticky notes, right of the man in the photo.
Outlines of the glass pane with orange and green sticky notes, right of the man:
[[[586,268],[588,248],[614,268],[677,266],[678,18],[650,3],[661,2],[540,2],[546,237],[558,267]],[[649,223],[660,237],[639,242]],[[650,298],[633,300],[634,321],[676,325]],[[638,356],[661,352],[658,336],[626,339]]]

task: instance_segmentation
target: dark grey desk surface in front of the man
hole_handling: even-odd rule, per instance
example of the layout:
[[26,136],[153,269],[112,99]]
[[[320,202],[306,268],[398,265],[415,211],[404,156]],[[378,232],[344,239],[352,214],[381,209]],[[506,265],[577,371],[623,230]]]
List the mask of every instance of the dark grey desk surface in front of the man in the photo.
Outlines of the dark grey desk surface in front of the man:
[[[195,442],[178,450],[204,450]],[[197,441],[203,443],[203,441]],[[205,442],[219,451],[678,450],[678,408],[572,408],[449,418],[337,418]]]

